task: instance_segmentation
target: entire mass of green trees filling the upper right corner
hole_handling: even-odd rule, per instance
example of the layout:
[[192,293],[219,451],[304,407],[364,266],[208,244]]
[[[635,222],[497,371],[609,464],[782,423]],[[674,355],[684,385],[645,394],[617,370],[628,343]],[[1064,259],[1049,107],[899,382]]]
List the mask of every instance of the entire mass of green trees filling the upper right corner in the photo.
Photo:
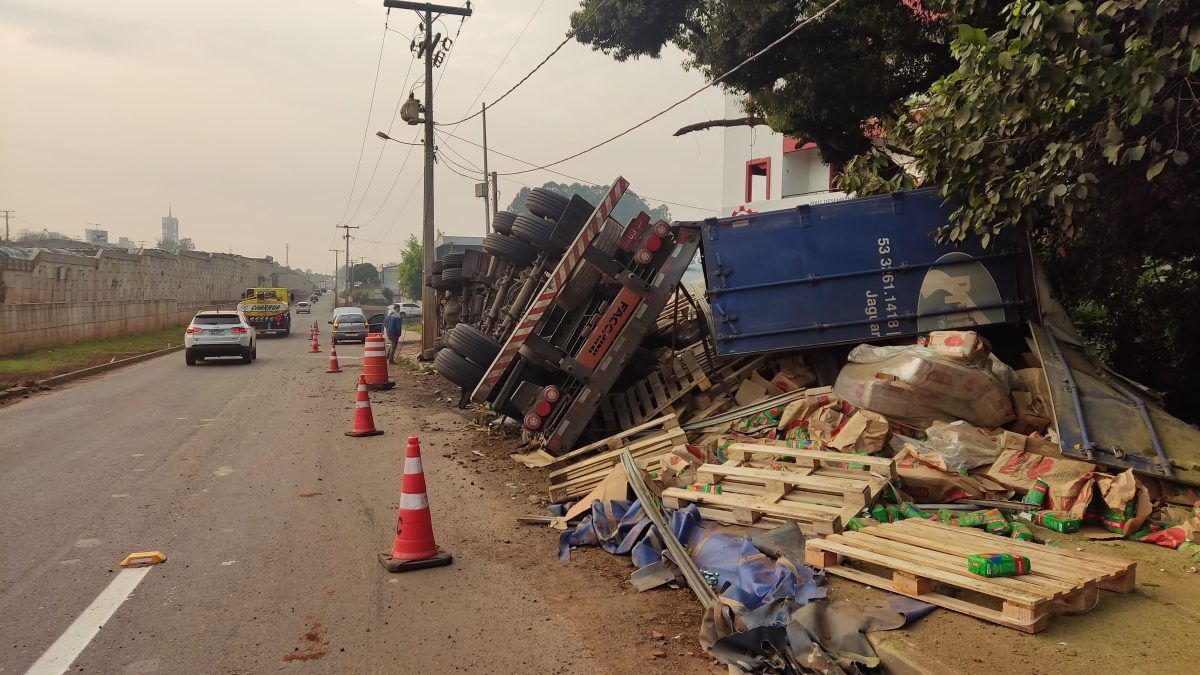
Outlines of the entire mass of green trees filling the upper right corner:
[[[715,78],[826,5],[581,0],[571,23]],[[842,190],[919,180],[954,208],[938,237],[1031,241],[1097,356],[1200,420],[1194,1],[842,0],[721,84],[748,101],[724,121],[815,142]]]

